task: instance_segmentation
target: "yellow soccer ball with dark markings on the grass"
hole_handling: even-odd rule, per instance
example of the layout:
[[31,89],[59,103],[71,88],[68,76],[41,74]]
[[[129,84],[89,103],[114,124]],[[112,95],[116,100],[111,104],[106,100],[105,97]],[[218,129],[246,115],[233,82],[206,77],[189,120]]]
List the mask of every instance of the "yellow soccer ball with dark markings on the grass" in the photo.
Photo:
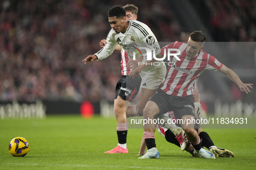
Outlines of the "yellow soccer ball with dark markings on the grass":
[[24,157],[29,152],[29,142],[23,137],[16,137],[9,144],[9,152],[14,157]]

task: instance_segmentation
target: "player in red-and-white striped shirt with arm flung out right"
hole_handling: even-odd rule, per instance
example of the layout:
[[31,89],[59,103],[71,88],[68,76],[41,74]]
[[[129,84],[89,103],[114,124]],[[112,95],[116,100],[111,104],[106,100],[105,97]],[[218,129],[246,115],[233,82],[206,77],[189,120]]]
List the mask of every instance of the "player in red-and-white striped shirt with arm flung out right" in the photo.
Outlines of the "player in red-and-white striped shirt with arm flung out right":
[[[143,110],[143,118],[153,120],[155,115],[173,110],[175,117],[183,120],[181,127],[186,132],[187,139],[192,143],[196,154],[204,158],[215,159],[211,152],[201,148],[201,141],[194,129],[194,122],[186,122],[186,120],[191,120],[195,117],[192,95],[195,80],[204,70],[212,69],[219,70],[225,74],[239,86],[241,91],[246,93],[250,92],[249,87],[252,88],[251,85],[253,84],[244,84],[235,72],[224,66],[215,57],[206,54],[202,50],[205,40],[204,33],[194,31],[190,34],[188,43],[176,41],[162,48],[162,55],[168,51],[166,48],[179,49],[181,51],[181,55],[178,57],[180,60],[172,56],[170,62],[175,63],[175,65],[169,66],[164,85],[149,99]],[[172,53],[175,52],[172,51]],[[155,130],[155,125],[150,121],[144,125],[144,134],[146,134],[144,136],[148,151],[140,158],[155,158],[151,157],[151,155],[156,154],[154,153],[156,151]]]

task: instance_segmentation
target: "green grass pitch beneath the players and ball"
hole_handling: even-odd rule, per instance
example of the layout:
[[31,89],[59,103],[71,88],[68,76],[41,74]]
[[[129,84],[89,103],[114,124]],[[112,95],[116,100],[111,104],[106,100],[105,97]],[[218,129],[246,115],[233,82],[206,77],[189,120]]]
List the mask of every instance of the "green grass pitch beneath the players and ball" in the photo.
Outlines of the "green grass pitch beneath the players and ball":
[[[156,132],[160,159],[140,160],[138,154],[143,129],[128,130],[129,154],[105,154],[117,146],[115,118],[99,116],[86,120],[81,116],[0,120],[0,170],[255,170],[256,129],[204,129],[220,148],[233,158],[208,160],[192,157],[170,144]],[[14,137],[28,140],[25,157],[13,157],[8,145]]]

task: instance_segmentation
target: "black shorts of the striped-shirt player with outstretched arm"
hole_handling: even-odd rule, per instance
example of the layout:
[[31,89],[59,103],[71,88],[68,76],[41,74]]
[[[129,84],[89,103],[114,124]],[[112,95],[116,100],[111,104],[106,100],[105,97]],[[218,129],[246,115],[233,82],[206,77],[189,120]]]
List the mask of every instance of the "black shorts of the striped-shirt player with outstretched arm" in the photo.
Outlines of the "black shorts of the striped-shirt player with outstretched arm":
[[185,115],[192,115],[195,117],[193,95],[185,97],[172,96],[166,94],[162,89],[159,89],[149,101],[156,103],[160,110],[160,114],[173,111],[177,119],[181,119],[181,117]]

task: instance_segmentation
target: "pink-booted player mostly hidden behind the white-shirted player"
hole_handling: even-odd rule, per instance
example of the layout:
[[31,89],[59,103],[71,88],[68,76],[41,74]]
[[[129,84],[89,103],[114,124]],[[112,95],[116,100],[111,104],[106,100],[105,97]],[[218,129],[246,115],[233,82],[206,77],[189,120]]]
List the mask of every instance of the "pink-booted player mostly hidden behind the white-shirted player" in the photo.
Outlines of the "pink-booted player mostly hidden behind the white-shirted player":
[[[138,7],[134,6],[133,4],[127,4],[126,6],[123,6],[123,9],[126,11],[127,20],[137,19]],[[101,40],[100,47],[104,47],[106,42],[107,41],[105,39]],[[136,106],[130,104],[138,94],[141,77],[135,76],[135,79],[129,77],[130,67],[128,66],[128,61],[130,58],[128,57],[128,54],[119,44],[117,44],[114,50],[121,52],[122,77],[117,82],[116,95],[114,100],[114,113],[117,122],[119,122],[119,119],[123,119],[122,113],[125,111],[127,118],[130,116],[139,116],[136,111]],[[128,82],[127,85],[126,82]],[[117,126],[119,126],[119,124],[117,124]],[[106,151],[105,153],[128,153],[126,146],[127,127],[128,122],[126,122],[126,125],[123,127],[117,129],[118,145],[116,148],[113,148],[110,151]]]

